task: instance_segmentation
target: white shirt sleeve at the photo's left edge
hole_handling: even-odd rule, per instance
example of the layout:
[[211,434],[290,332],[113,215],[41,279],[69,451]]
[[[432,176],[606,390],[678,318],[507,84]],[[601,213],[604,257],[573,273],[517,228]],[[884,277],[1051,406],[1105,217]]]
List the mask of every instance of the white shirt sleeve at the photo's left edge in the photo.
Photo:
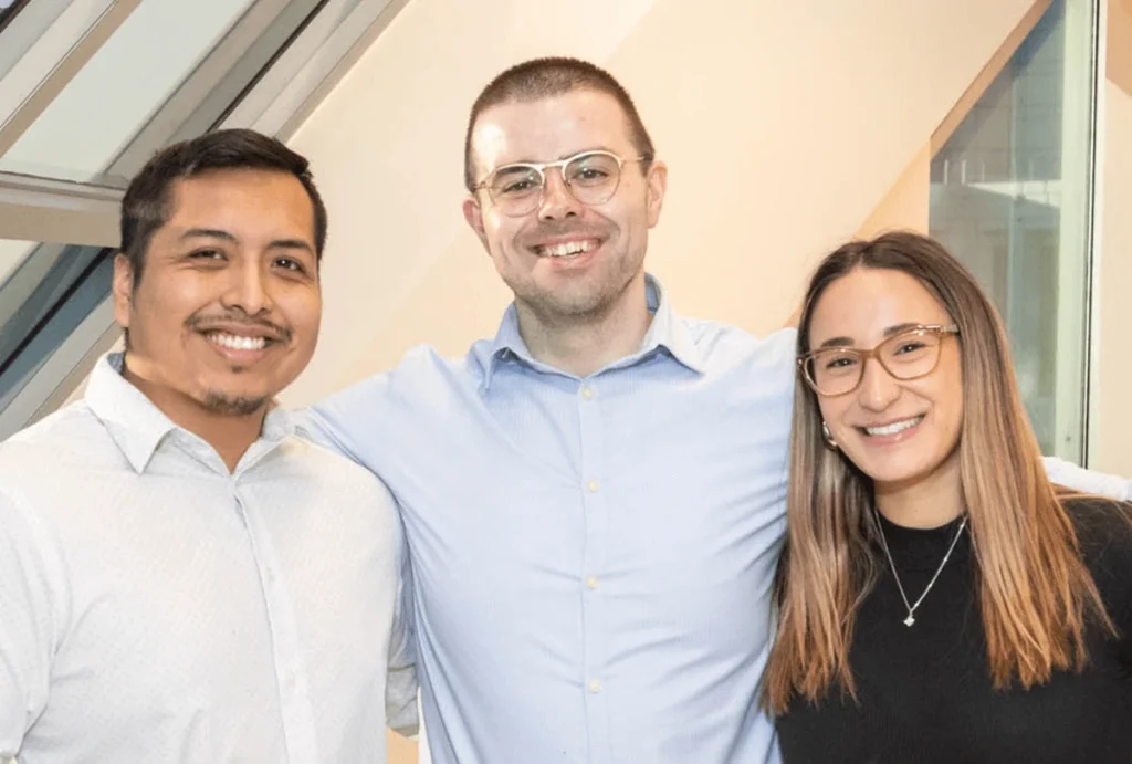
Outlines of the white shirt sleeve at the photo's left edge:
[[48,703],[60,618],[44,538],[0,487],[0,754],[20,749]]

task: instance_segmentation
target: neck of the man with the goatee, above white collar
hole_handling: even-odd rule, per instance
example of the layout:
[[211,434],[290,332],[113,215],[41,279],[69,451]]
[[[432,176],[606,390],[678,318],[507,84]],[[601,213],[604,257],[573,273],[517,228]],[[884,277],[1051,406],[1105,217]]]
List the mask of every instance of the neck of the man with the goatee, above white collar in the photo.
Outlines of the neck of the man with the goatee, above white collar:
[[264,418],[267,415],[266,405],[246,415],[217,413],[182,393],[135,374],[130,369],[129,354],[122,364],[122,376],[142,390],[174,424],[211,445],[229,472],[235,471],[245,453],[263,431]]

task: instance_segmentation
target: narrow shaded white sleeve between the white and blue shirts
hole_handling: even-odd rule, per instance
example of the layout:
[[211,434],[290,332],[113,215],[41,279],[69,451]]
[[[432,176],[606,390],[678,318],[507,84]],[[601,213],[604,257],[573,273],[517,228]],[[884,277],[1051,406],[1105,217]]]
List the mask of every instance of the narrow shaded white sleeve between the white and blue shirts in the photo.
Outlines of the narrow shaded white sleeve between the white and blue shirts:
[[389,638],[388,678],[385,687],[385,716],[388,727],[405,737],[413,737],[420,729],[417,704],[417,629],[413,618],[413,575],[409,564],[404,533],[398,532],[401,576],[397,606],[393,616]]

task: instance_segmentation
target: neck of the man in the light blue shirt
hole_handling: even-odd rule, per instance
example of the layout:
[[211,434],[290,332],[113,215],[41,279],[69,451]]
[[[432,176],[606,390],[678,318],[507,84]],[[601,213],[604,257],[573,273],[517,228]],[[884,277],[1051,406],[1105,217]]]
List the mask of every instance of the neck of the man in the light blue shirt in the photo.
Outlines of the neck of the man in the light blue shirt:
[[604,310],[584,316],[557,317],[516,301],[518,333],[531,355],[542,363],[578,377],[632,355],[641,347],[652,315],[644,277]]

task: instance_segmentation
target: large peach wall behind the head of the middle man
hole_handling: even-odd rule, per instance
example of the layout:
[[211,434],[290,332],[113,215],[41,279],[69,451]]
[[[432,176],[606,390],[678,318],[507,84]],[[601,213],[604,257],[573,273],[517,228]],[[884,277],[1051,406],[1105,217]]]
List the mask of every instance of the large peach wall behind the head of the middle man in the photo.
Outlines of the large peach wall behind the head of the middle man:
[[494,333],[508,294],[461,217],[461,152],[506,66],[573,54],[625,83],[670,166],[650,269],[678,309],[765,333],[1032,6],[413,0],[291,141],[332,225],[319,351],[286,402]]

